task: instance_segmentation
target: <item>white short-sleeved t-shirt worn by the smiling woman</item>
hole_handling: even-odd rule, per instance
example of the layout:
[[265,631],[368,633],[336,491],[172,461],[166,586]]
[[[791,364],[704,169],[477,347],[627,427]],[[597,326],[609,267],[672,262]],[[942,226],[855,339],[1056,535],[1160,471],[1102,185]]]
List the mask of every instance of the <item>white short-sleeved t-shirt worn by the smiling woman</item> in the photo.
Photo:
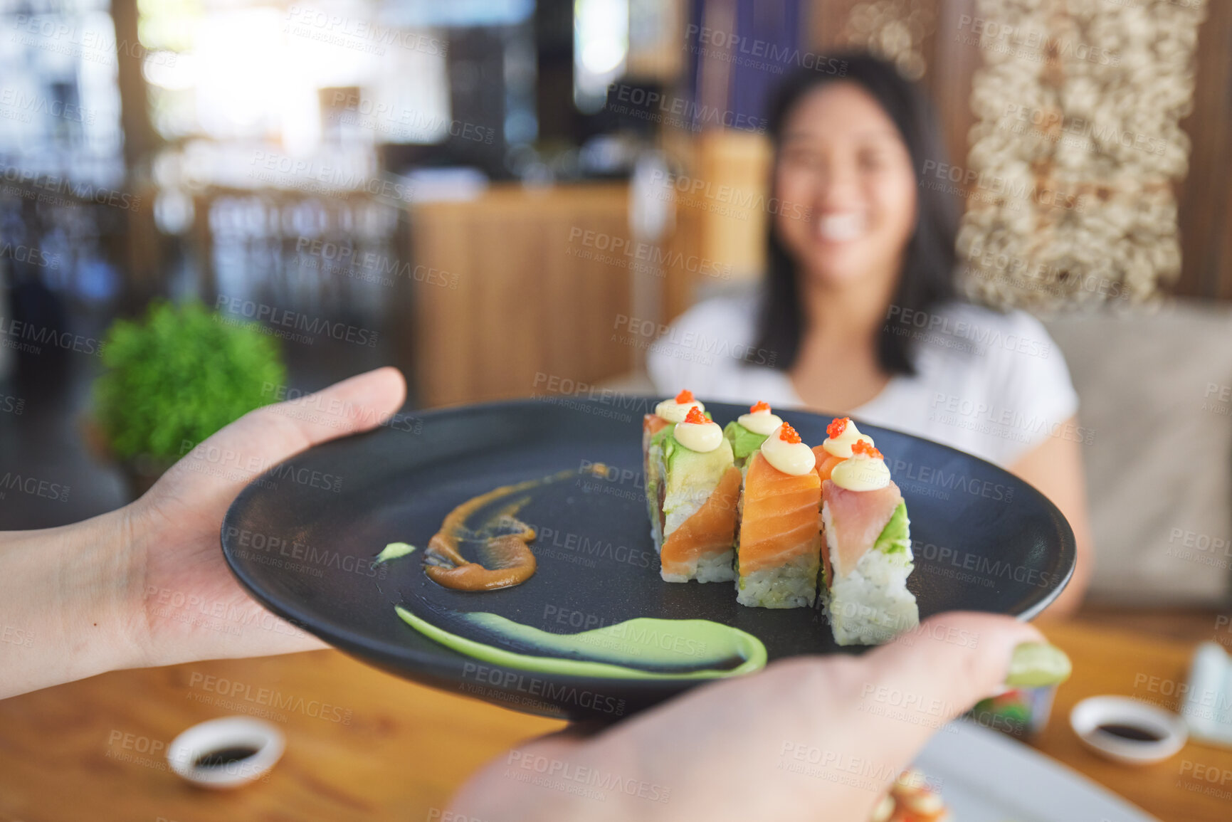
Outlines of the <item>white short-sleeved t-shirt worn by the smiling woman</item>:
[[[649,349],[658,393],[689,388],[718,402],[802,408],[787,372],[772,367],[776,355],[754,348],[759,311],[756,296],[724,296],[681,314]],[[1066,428],[1078,409],[1069,368],[1030,314],[951,303],[886,322],[912,339],[917,375],[896,375],[859,408],[827,410],[1007,467],[1050,436],[1077,435]]]

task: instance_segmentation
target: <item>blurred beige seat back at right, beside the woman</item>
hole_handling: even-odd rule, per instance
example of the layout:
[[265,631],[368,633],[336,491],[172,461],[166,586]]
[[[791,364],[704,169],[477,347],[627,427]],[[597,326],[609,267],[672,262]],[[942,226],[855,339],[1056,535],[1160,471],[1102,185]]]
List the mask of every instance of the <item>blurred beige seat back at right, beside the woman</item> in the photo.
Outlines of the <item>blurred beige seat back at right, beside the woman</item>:
[[1232,568],[1232,309],[1046,322],[1078,389],[1095,540],[1088,599],[1227,604]]

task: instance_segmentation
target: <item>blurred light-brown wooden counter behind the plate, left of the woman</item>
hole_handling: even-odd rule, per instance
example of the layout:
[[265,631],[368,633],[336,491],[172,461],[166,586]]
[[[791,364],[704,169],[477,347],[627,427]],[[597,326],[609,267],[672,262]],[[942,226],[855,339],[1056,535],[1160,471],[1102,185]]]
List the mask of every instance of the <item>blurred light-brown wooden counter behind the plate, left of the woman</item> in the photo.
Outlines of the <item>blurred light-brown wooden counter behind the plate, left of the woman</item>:
[[527,397],[552,378],[593,385],[637,362],[620,339],[638,262],[628,186],[496,185],[418,203],[411,243],[430,277],[415,288],[408,334],[419,404]]

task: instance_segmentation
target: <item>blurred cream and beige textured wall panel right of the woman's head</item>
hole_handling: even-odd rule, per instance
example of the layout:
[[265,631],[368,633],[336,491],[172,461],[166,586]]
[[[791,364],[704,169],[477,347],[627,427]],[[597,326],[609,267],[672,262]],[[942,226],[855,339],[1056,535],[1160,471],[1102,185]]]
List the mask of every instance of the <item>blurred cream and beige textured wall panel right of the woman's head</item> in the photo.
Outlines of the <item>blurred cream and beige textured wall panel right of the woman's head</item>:
[[1035,311],[1147,302],[1180,272],[1177,202],[1206,0],[978,0],[963,287]]

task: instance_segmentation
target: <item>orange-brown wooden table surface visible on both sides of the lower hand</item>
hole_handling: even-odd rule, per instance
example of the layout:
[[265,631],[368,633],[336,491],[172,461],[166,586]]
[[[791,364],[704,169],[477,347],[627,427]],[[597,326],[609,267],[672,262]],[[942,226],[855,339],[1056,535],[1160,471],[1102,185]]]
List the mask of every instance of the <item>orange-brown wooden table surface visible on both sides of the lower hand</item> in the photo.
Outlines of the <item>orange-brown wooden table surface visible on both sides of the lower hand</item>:
[[[1232,751],[1189,743],[1131,769],[1089,753],[1067,723],[1073,704],[1093,694],[1174,707],[1194,642],[1089,622],[1045,630],[1073,658],[1074,675],[1037,748],[1161,820],[1232,818],[1232,799],[1201,792],[1221,787],[1207,781],[1210,769],[1232,774]],[[264,716],[287,736],[266,781],[208,791],[166,769],[177,733],[233,714]],[[0,822],[439,818],[432,810],[483,762],[559,727],[334,651],[116,672],[0,701]],[[1232,779],[1222,789],[1232,790]]]

